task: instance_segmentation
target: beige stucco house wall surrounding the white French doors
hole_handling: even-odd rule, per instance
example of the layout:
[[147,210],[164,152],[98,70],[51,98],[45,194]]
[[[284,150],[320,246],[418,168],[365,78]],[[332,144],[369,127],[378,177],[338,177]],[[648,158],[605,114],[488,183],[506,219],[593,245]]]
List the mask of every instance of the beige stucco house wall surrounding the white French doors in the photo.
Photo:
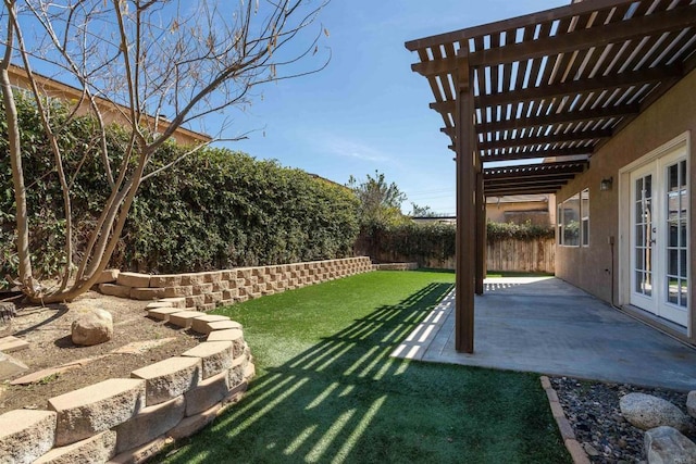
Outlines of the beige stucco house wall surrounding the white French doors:
[[[589,244],[587,247],[558,246],[556,274],[558,277],[627,312],[646,319],[692,343],[696,298],[693,281],[696,272],[696,163],[694,135],[696,134],[696,71],[688,74],[657,102],[644,111],[627,127],[619,131],[591,159],[589,168],[562,188],[557,195],[560,204],[571,196],[589,189]],[[680,145],[686,152],[688,176],[687,272],[688,308],[686,326],[673,324],[662,317],[631,304],[632,243],[630,238],[632,193],[630,171],[637,168],[642,159],[671,145]],[[668,148],[666,148],[668,147]],[[600,181],[611,177],[610,189],[600,190]],[[613,244],[612,244],[613,243]],[[659,243],[658,243],[659,244]],[[666,251],[654,252],[655,260],[664,260]]]

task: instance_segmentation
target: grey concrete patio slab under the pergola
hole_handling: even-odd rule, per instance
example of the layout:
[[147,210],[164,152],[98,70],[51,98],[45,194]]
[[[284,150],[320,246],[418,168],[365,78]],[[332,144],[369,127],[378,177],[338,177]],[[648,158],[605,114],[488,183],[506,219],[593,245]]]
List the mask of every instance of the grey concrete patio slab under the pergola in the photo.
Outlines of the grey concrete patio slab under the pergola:
[[485,280],[474,354],[455,350],[450,293],[393,356],[696,389],[696,350],[554,277]]

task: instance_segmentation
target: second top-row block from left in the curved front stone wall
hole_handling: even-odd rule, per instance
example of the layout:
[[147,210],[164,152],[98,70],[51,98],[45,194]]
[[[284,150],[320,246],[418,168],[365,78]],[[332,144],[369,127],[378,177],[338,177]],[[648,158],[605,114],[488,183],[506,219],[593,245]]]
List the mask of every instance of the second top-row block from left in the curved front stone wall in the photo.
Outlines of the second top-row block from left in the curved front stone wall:
[[133,417],[145,406],[145,384],[111,378],[48,400],[58,414],[55,446],[84,440]]

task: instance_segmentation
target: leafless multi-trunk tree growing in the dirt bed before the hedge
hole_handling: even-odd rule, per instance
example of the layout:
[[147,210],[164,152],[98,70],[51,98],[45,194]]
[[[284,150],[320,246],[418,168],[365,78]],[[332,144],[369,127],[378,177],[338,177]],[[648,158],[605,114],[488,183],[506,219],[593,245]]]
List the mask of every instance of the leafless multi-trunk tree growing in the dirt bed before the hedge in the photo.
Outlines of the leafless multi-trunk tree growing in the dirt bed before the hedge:
[[[253,89],[259,85],[325,67],[330,57],[323,50],[313,57],[322,35],[328,35],[316,23],[327,1],[3,0],[0,89],[16,200],[15,284],[25,294],[44,302],[66,301],[97,281],[117,244],[138,186],[206,145],[152,167],[158,148],[179,127],[191,127],[212,113],[246,108],[258,97]],[[13,65],[26,72],[63,193],[65,266],[59,284],[50,288],[32,271],[22,147],[9,74]],[[70,103],[67,121],[51,117],[39,78],[47,74],[80,90],[79,99]],[[85,113],[98,123],[110,195],[86,248],[76,253],[70,181],[74,173],[65,172],[58,138],[72,118]],[[107,123],[114,118],[128,133],[117,158],[107,142]],[[229,123],[223,114],[212,139],[245,137],[228,136]]]

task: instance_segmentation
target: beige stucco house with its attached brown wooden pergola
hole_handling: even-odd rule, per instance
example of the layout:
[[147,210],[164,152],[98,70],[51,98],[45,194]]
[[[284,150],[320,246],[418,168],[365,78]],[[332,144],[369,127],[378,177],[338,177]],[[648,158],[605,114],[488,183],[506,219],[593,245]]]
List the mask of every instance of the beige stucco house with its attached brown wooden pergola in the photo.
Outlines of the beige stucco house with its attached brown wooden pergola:
[[484,198],[527,193],[556,195],[558,277],[696,344],[695,24],[691,1],[585,0],[407,42],[457,152],[458,350]]

